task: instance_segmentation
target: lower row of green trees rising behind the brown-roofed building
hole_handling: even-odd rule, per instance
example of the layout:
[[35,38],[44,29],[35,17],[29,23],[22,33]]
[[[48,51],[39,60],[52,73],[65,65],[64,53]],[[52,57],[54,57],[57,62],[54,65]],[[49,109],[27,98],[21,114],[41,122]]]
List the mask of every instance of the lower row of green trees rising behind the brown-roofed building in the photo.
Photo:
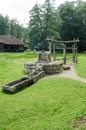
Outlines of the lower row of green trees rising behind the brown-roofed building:
[[0,15],[0,35],[16,36],[19,39],[23,39],[23,41],[25,42],[26,30],[27,29],[20,25],[16,19],[10,20],[8,16],[4,17]]

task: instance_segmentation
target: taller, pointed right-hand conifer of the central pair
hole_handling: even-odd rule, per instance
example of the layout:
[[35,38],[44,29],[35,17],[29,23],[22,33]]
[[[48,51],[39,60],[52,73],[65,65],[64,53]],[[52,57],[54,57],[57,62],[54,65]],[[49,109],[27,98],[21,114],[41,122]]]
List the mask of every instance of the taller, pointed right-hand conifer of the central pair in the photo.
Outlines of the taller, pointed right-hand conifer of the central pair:
[[44,33],[46,37],[60,38],[59,29],[61,27],[61,19],[58,11],[55,10],[54,0],[45,0],[44,7]]

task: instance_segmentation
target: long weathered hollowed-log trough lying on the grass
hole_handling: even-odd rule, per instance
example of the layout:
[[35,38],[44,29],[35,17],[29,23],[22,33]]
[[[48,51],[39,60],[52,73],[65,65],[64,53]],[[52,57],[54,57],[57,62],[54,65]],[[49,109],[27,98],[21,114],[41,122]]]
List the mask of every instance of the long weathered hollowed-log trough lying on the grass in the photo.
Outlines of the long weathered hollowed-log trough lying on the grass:
[[26,87],[29,87],[31,84],[37,82],[39,79],[43,78],[44,76],[45,76],[44,71],[41,71],[39,73],[32,72],[27,77],[23,77],[20,78],[19,80],[15,80],[13,82],[3,85],[2,91],[6,93],[19,92],[22,89],[25,89]]

